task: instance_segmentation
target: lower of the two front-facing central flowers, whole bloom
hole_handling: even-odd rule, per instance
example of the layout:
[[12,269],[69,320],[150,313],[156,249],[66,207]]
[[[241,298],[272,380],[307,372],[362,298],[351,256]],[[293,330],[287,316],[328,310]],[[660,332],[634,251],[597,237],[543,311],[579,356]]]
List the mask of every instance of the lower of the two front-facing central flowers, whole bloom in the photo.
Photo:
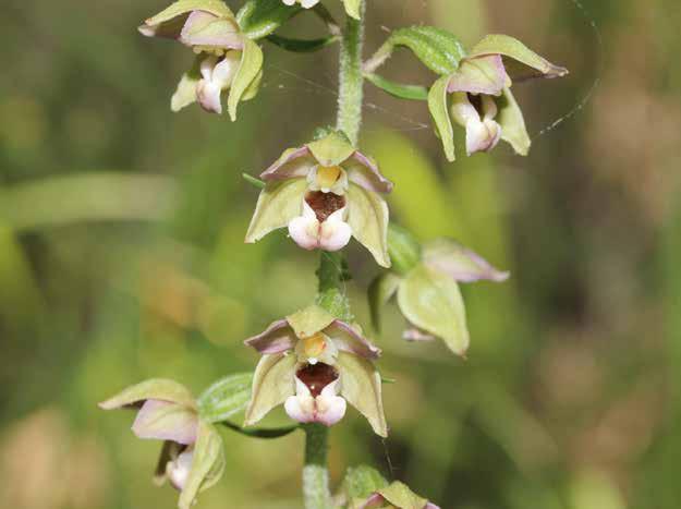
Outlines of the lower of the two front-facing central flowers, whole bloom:
[[372,363],[380,351],[354,326],[313,305],[275,322],[245,343],[263,354],[245,425],[283,403],[297,422],[331,426],[350,403],[374,432],[388,435],[381,380]]

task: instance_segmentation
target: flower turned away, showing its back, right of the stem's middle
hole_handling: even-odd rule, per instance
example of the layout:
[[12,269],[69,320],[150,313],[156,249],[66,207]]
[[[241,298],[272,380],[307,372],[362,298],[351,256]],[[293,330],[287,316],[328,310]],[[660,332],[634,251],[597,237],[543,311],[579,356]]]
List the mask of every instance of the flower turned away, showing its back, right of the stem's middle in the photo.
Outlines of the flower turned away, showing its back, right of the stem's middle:
[[375,326],[380,307],[397,293],[398,306],[409,327],[404,339],[425,341],[440,338],[458,355],[470,344],[465,306],[460,282],[502,282],[509,272],[492,267],[479,255],[451,239],[436,239],[423,245],[404,229],[390,227],[392,270],[372,283],[369,301]]

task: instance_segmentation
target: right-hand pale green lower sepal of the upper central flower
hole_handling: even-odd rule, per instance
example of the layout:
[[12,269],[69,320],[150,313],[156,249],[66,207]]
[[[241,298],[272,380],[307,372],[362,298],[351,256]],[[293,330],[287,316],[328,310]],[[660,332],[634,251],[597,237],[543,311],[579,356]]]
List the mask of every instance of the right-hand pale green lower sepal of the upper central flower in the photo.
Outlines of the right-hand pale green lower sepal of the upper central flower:
[[378,265],[386,268],[390,267],[388,221],[388,205],[378,193],[354,183],[349,185],[348,223],[352,235],[374,255]]

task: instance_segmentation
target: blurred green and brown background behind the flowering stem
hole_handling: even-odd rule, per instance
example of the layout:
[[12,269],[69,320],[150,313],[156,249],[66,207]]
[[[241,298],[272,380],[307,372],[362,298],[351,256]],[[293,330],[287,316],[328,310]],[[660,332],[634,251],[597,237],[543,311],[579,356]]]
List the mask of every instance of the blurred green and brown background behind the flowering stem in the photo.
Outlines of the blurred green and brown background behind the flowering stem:
[[[583,2],[588,15],[572,0],[369,1],[368,50],[384,27],[430,23],[469,45],[516,36],[572,73],[515,88],[530,157],[502,147],[453,165],[424,104],[367,85],[362,145],[398,184],[392,215],[513,277],[464,288],[465,362],[402,342],[389,307],[376,341],[397,378],[385,388],[391,434],[381,441],[349,412],[331,438],[336,483],[369,462],[443,509],[681,507],[681,9]],[[238,123],[172,114],[192,56],[135,31],[165,5],[3,0],[2,508],[174,507],[150,482],[159,444],[96,402],[147,377],[198,392],[252,369],[242,340],[314,295],[316,254],[283,233],[243,244],[257,191],[240,175],[332,122],[337,49],[267,47],[263,90]],[[320,31],[301,16],[284,33]],[[386,69],[431,81],[405,52]],[[350,263],[367,323],[376,267],[356,245]],[[200,508],[301,507],[300,434],[224,439],[226,475]]]

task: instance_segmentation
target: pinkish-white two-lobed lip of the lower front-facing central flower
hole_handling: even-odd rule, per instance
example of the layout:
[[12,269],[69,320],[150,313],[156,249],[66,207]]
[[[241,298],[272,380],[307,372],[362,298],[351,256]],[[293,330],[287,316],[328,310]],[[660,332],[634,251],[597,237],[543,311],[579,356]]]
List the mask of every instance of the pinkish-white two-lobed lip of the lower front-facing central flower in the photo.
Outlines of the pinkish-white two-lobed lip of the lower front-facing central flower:
[[313,398],[307,386],[296,376],[295,396],[284,402],[287,414],[300,423],[320,423],[332,426],[345,415],[346,402],[338,396],[340,380],[327,385],[319,396]]

